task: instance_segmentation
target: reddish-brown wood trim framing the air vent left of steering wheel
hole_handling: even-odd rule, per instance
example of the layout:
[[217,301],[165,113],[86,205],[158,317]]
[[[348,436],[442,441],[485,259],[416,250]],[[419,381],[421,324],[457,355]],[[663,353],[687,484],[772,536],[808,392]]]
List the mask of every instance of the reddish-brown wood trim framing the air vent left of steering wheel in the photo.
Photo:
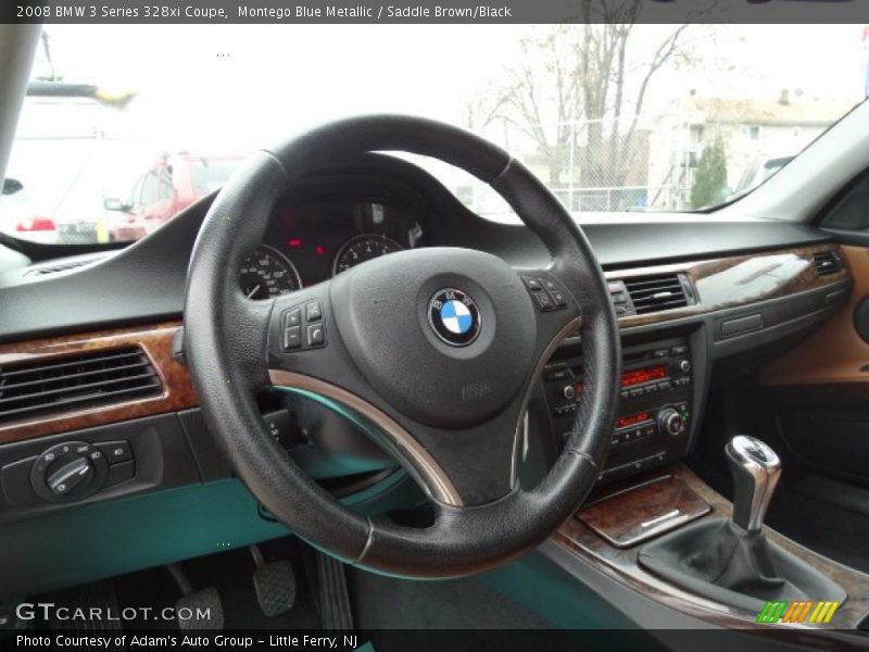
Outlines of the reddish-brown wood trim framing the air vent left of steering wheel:
[[172,355],[172,339],[181,327],[179,322],[136,328],[103,330],[33,340],[14,344],[0,344],[0,366],[14,362],[62,358],[83,351],[98,351],[138,344],[151,360],[163,385],[163,393],[155,397],[118,402],[99,408],[84,408],[56,415],[26,418],[0,426],[0,443],[21,441],[67,432],[80,428],[101,426],[152,414],[174,412],[198,404],[187,367]]

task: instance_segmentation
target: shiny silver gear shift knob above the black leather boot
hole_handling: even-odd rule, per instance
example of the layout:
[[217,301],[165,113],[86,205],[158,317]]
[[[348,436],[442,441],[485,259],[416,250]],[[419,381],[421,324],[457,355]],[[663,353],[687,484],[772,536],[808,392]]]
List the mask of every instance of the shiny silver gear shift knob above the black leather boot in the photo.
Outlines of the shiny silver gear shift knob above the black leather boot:
[[779,456],[759,439],[744,435],[731,439],[725,453],[733,476],[733,522],[744,530],[757,531],[779,482]]

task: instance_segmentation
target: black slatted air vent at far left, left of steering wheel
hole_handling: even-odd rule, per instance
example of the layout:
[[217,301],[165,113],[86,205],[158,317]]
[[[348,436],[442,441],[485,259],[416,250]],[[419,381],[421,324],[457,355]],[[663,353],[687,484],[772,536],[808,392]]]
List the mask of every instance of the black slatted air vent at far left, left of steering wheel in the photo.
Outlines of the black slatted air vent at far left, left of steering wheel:
[[0,423],[158,396],[138,347],[0,366]]

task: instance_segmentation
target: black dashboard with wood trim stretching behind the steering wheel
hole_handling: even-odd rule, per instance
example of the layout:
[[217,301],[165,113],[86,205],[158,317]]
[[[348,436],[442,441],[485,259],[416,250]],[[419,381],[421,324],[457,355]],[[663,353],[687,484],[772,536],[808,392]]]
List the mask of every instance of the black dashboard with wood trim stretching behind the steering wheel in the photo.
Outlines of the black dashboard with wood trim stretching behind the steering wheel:
[[[168,560],[211,552],[215,540],[241,546],[285,532],[263,518],[250,493],[232,480],[199,413],[178,348],[187,265],[210,201],[123,250],[0,261],[0,374],[30,369],[26,365],[45,374],[54,363],[71,368],[63,366],[71,360],[101,364],[97,358],[121,352],[130,368],[150,365],[153,372],[141,385],[125,379],[123,401],[81,392],[26,417],[0,414],[0,524],[3,554],[15,560],[7,564],[14,574],[4,577],[3,590],[25,594],[51,589],[55,577],[72,584],[106,569],[141,567],[135,554],[140,540],[148,541],[153,559]],[[837,246],[807,225],[632,214],[589,222],[583,229],[610,283],[626,372],[603,482],[683,457],[697,437],[716,375],[785,348],[849,293],[845,266],[820,275],[818,256],[835,259]],[[371,256],[431,246],[480,249],[515,266],[540,268],[547,262],[542,243],[521,225],[483,220],[420,168],[369,155],[288,190],[261,246],[238,269],[239,288],[262,300],[315,285]],[[665,285],[650,294],[648,283]],[[656,300],[664,292],[669,301],[673,291],[682,293],[678,304],[650,305],[650,296]],[[546,446],[558,446],[581,396],[579,351],[576,338],[568,338],[537,379],[528,428]],[[361,450],[358,438],[327,411],[270,399],[261,408],[277,430],[288,418],[303,421],[304,428],[281,443],[295,447],[297,461],[316,469],[312,475],[325,486],[342,496],[364,494],[348,499],[358,501],[358,509],[376,513],[383,501],[392,509],[418,499],[406,475]],[[327,468],[315,446],[299,446],[294,438],[302,429],[305,441],[316,444],[330,446],[336,434],[343,438],[339,452],[353,447],[345,457],[366,484],[339,485],[349,472]],[[539,457],[545,466],[557,454],[545,448],[530,447],[529,465]],[[43,500],[49,494],[42,482],[50,484],[51,472],[39,464],[58,451],[115,457],[95,466],[95,484],[74,500]],[[239,517],[214,517],[227,512]],[[84,514],[100,527],[114,524],[116,537],[97,541],[83,525]],[[179,546],[179,527],[202,538],[181,537],[185,548],[168,550]],[[76,551],[85,548],[93,563],[81,563]]]

